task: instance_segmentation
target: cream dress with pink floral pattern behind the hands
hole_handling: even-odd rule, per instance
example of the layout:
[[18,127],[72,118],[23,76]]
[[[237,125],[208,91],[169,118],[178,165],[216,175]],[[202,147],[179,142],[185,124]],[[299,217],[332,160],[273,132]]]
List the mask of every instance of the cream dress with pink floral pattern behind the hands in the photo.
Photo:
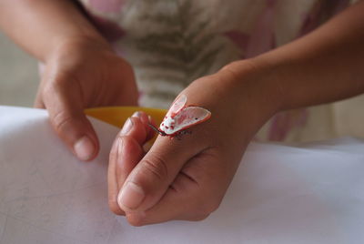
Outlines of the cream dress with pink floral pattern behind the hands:
[[[136,71],[140,105],[169,107],[200,76],[307,34],[349,0],[79,0],[90,21]],[[315,110],[316,109],[316,110]],[[331,137],[331,107],[273,117],[261,140]]]

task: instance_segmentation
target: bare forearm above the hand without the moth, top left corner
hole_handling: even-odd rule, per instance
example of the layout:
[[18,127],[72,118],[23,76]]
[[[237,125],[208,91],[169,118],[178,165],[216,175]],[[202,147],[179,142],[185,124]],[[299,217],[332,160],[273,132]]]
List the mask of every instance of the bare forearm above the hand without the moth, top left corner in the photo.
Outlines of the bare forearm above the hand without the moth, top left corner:
[[91,38],[106,44],[70,0],[2,0],[0,27],[42,61],[73,38]]

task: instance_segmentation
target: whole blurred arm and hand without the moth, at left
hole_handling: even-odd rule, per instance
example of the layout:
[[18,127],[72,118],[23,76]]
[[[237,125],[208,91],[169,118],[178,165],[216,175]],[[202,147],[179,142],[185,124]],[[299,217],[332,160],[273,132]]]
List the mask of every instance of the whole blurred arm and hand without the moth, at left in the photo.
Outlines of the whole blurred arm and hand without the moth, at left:
[[47,109],[56,133],[77,158],[95,158],[98,139],[83,111],[136,106],[131,66],[72,1],[2,0],[0,27],[45,65],[35,107]]

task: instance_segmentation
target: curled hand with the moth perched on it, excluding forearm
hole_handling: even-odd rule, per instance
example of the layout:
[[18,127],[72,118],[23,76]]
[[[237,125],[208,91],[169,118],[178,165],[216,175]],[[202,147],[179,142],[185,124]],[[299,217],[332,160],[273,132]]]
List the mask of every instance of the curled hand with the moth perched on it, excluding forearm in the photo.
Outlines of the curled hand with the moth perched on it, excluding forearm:
[[245,69],[236,76],[225,68],[182,92],[187,105],[205,107],[212,116],[181,140],[159,136],[145,154],[147,116],[126,122],[108,169],[109,206],[116,214],[140,226],[205,219],[217,209],[249,140],[278,107],[259,87],[254,68]]

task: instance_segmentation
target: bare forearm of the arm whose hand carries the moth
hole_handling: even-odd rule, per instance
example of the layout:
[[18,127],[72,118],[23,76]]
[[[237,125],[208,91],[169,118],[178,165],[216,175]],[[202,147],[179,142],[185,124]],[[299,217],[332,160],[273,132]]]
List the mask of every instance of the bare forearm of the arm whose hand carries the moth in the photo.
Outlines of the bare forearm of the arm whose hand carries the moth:
[[[277,110],[363,93],[363,13],[360,2],[307,36],[253,58],[251,63],[264,74],[259,92],[276,100]],[[238,63],[232,69],[239,74]]]

